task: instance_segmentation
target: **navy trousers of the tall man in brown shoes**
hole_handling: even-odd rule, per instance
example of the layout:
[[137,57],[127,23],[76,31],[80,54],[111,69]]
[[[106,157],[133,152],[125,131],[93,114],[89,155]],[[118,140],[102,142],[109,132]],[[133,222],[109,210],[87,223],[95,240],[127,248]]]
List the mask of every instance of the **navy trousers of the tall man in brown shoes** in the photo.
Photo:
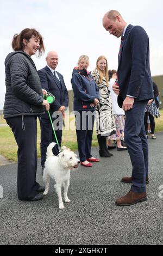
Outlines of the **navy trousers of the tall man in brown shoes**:
[[148,176],[148,141],[145,132],[144,115],[147,100],[134,102],[133,108],[126,111],[124,141],[130,155],[132,171],[131,191],[146,191]]

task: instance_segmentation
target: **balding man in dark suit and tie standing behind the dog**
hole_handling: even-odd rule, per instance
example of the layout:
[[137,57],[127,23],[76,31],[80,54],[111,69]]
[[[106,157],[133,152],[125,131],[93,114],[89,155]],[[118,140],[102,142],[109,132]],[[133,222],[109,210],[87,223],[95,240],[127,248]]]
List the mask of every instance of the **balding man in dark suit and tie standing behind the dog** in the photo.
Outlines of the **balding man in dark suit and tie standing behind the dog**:
[[[47,66],[38,71],[41,86],[46,89],[47,92],[52,93],[55,96],[55,101],[50,105],[49,113],[51,114],[55,133],[59,145],[61,146],[62,137],[62,124],[63,114],[65,108],[68,106],[68,92],[65,86],[63,76],[55,71],[58,65],[58,54],[57,52],[51,51],[47,53],[46,57]],[[46,150],[51,142],[56,142],[51,121],[48,113],[41,114],[40,116],[41,126],[41,166],[44,168],[46,161]],[[58,147],[53,148],[54,155],[59,154]]]

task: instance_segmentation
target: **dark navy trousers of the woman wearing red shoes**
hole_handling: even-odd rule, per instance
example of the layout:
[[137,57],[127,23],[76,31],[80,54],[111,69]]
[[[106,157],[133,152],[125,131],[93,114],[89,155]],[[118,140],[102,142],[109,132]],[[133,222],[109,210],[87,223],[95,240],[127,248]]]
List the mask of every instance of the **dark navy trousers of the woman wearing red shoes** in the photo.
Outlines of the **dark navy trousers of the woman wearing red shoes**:
[[[83,113],[83,118],[82,118]],[[95,115],[92,111],[74,111],[76,115],[76,133],[80,161],[92,157],[91,145]]]

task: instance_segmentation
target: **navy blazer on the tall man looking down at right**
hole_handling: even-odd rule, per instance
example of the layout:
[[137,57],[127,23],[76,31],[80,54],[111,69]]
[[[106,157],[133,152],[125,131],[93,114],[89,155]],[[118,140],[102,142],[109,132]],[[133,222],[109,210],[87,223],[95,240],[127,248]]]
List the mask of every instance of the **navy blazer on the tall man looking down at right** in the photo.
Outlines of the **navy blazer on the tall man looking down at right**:
[[152,78],[149,66],[149,38],[140,26],[129,25],[124,34],[118,62],[118,105],[122,107],[127,95],[135,101],[153,98]]

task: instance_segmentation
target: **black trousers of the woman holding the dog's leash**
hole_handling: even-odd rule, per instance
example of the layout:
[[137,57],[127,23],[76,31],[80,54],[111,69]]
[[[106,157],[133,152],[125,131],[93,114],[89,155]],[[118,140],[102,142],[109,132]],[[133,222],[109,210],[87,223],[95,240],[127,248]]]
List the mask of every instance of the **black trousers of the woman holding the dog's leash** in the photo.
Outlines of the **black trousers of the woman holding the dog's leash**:
[[18,199],[36,196],[40,185],[36,182],[37,170],[37,122],[36,115],[7,118],[14,133],[17,150],[17,194]]

